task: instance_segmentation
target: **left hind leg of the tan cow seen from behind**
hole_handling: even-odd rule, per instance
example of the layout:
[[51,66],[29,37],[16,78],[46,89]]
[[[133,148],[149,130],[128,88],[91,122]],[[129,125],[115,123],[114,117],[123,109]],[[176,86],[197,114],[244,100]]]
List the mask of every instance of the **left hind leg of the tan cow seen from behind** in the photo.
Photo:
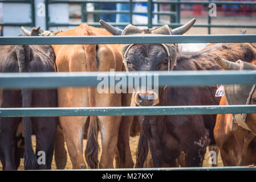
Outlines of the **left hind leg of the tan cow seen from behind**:
[[[87,107],[87,88],[58,88],[59,107]],[[84,124],[88,117],[59,117],[74,169],[86,168],[83,158]]]

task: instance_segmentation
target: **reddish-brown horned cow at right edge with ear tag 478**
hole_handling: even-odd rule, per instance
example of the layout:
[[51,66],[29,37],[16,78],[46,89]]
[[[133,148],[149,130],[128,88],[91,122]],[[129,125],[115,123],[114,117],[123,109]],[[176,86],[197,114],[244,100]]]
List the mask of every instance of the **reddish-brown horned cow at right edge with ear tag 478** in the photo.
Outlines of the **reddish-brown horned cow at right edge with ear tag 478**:
[[[253,65],[256,63],[256,60],[252,62],[253,64],[249,64],[243,63],[242,61],[238,61],[238,63],[229,63],[229,61],[223,60],[221,59],[221,57],[218,56],[216,57],[216,59],[224,69],[234,69],[228,67],[227,65],[235,64],[237,64],[238,69],[241,69],[242,64],[243,69],[246,69],[247,64],[249,65],[250,69],[256,69],[256,66]],[[241,89],[240,92],[236,92],[236,94],[233,94],[229,90],[230,87],[232,87],[233,89],[234,85],[225,86],[225,96],[221,98],[220,105],[228,105],[227,98],[229,100],[229,104],[231,105],[256,104],[256,90],[254,88],[249,89],[250,92],[247,92],[245,89]],[[237,87],[236,90],[238,90]],[[245,96],[246,98],[243,96]],[[238,97],[242,98],[244,102],[239,102],[239,100],[241,99],[239,99]],[[235,101],[232,100],[232,98],[235,98]],[[221,158],[224,163],[224,166],[247,166],[250,164],[256,164],[255,123],[255,113],[249,113],[245,115],[245,120],[242,121],[242,123],[239,123],[239,121],[235,123],[233,121],[233,114],[217,114],[216,126],[214,127],[214,138],[216,140],[218,147],[220,148]]]

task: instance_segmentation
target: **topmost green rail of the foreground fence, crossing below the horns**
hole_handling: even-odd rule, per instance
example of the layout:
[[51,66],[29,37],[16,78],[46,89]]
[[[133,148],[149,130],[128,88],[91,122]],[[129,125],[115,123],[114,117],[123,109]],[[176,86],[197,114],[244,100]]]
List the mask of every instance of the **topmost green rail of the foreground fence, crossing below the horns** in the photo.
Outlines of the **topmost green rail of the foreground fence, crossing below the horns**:
[[256,42],[256,35],[160,35],[160,36],[30,36],[1,37],[0,45],[35,44],[148,44]]

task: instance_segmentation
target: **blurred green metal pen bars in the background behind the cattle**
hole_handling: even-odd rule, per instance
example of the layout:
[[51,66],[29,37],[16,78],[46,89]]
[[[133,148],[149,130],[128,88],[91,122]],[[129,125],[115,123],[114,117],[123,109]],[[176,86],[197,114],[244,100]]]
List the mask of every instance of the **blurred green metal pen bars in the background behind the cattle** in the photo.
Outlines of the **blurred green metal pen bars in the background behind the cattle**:
[[[0,23],[0,26],[30,26],[33,27],[35,26],[35,5],[34,5],[34,0],[0,0],[0,2],[3,3],[30,3],[31,4],[31,22],[28,23]],[[78,23],[52,23],[50,22],[50,14],[48,10],[48,6],[50,4],[54,3],[68,3],[68,4],[80,4],[82,6],[82,22]],[[87,3],[127,3],[130,5],[129,11],[124,10],[124,11],[116,11],[116,10],[94,10],[94,11],[87,11],[86,6]],[[148,4],[148,12],[133,12],[132,11],[132,5],[135,3],[147,3]],[[176,7],[176,11],[152,11],[153,10],[153,4],[157,3],[158,5],[174,5]],[[99,22],[87,22],[87,14],[129,14],[130,22],[128,23],[115,23],[111,22],[113,26],[127,26],[129,23],[132,23],[132,15],[133,14],[147,14],[148,15],[148,22],[144,25],[141,24],[134,24],[135,26],[148,26],[149,28],[154,27],[154,26],[161,26],[162,23],[153,23],[152,22],[152,17],[153,15],[169,15],[171,18],[174,16],[175,22],[169,23],[168,26],[175,28],[182,26],[183,24],[180,23],[180,5],[209,5],[209,3],[215,3],[216,5],[247,5],[247,6],[256,6],[255,1],[181,1],[181,0],[176,0],[176,1],[132,1],[132,0],[121,0],[121,1],[104,1],[104,0],[99,0],[99,1],[63,1],[63,0],[44,0],[44,4],[46,5],[46,29],[50,27],[58,27],[58,26],[79,26],[81,23],[87,23],[91,26],[100,26]],[[208,16],[208,23],[207,24],[195,24],[194,27],[208,27],[208,34],[210,34],[210,28],[211,27],[243,27],[243,28],[256,28],[256,25],[254,24],[212,24],[211,23],[211,17]]]

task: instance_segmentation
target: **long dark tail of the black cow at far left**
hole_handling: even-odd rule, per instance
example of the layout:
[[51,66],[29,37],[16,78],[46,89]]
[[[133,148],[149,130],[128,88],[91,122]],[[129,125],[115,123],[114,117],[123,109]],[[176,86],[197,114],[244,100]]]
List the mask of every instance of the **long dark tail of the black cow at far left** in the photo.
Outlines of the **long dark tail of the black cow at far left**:
[[[19,64],[19,72],[29,72],[29,63],[30,63],[30,47],[27,45],[16,46],[16,54]],[[21,89],[22,95],[22,107],[31,107],[31,90],[30,89]],[[37,169],[37,158],[32,148],[32,126],[31,118],[23,117],[23,130],[25,135],[25,152],[24,152],[24,167],[25,169]]]

